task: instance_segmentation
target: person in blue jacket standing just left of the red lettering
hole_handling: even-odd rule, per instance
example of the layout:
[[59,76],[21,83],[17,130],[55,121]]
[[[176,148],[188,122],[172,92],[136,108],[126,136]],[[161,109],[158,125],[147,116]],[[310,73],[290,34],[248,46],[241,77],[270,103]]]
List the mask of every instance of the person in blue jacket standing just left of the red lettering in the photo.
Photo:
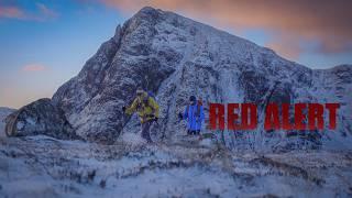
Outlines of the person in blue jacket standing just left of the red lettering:
[[180,119],[187,120],[187,134],[200,134],[201,122],[205,120],[202,103],[197,101],[195,96],[189,97],[189,105],[184,113],[179,113]]

